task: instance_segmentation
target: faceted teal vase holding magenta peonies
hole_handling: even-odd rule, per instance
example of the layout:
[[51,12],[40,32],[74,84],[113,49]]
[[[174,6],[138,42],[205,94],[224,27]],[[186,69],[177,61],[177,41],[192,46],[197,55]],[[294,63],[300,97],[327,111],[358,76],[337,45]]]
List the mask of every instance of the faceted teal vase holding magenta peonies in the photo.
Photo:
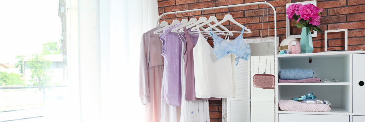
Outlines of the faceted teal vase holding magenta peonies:
[[300,36],[300,53],[308,54],[313,52],[313,42],[311,28],[303,27],[301,28]]

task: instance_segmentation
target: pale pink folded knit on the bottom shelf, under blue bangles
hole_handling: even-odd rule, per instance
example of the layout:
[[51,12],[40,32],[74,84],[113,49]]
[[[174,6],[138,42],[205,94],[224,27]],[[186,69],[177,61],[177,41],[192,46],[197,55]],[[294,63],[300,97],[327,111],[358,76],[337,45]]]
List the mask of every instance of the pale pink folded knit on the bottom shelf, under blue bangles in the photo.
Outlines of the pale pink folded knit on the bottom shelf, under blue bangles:
[[283,111],[314,111],[314,112],[327,112],[330,111],[330,106],[321,103],[301,103],[298,101],[279,101],[280,110]]

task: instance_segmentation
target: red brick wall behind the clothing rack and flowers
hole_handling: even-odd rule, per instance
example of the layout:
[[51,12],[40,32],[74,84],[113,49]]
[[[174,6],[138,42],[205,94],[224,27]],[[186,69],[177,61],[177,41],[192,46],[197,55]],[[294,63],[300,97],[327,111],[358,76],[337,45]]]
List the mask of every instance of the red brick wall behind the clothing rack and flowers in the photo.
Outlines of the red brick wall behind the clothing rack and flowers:
[[[161,15],[164,12],[181,11],[188,9],[216,7],[222,5],[233,5],[241,3],[252,3],[265,0],[158,0],[158,12]],[[310,0],[266,0],[272,4],[277,13],[277,36],[281,40],[286,38],[285,29],[285,4]],[[323,8],[323,15],[320,19],[320,29],[349,29],[348,30],[348,50],[365,50],[365,0],[317,0],[317,6]],[[244,7],[229,8],[230,14],[241,24],[245,24],[250,28],[251,34],[243,34],[245,38],[259,38],[261,30],[263,5],[249,5]],[[227,14],[227,8],[213,9],[213,14],[218,20],[222,20]],[[193,16],[194,15],[194,16]],[[203,11],[203,15],[207,18],[212,15],[212,10]],[[201,11],[177,13],[177,19],[189,19],[195,17],[199,19],[202,16]],[[269,9],[269,30],[270,35],[274,34],[274,17],[273,11]],[[265,16],[266,17],[266,16]],[[169,23],[175,19],[175,14],[165,16],[165,20]],[[160,21],[163,21],[162,18]],[[266,22],[266,20],[264,20]],[[291,21],[292,23],[292,21]],[[223,23],[232,31],[241,31],[242,28],[237,25],[230,24],[228,21]],[[300,34],[301,28],[296,28],[291,24],[291,32]],[[268,35],[267,24],[264,24],[262,35]],[[238,33],[230,38],[235,38]],[[344,46],[344,32],[328,33],[328,50],[341,49]],[[208,42],[213,45],[212,40]],[[313,38],[314,52],[324,51],[324,32],[319,32],[317,37]],[[221,101],[210,101],[211,122],[221,121]],[[219,109],[219,110],[217,110]]]

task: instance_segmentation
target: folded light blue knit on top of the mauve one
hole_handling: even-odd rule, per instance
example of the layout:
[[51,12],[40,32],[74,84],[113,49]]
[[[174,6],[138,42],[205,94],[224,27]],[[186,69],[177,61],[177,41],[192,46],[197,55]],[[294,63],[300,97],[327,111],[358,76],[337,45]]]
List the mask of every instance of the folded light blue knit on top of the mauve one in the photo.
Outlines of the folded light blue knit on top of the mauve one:
[[282,80],[301,80],[313,78],[314,71],[312,69],[281,69],[280,79]]

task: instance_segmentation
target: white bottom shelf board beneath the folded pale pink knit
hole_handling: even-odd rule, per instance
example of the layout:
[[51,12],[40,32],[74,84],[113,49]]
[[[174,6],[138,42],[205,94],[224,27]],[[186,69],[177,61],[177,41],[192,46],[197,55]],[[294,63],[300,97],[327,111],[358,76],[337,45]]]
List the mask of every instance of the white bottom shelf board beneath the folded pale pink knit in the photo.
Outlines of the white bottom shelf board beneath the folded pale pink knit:
[[279,114],[323,114],[323,115],[353,115],[353,113],[349,113],[345,109],[340,107],[333,107],[331,111],[328,112],[309,112],[309,111],[278,111]]

